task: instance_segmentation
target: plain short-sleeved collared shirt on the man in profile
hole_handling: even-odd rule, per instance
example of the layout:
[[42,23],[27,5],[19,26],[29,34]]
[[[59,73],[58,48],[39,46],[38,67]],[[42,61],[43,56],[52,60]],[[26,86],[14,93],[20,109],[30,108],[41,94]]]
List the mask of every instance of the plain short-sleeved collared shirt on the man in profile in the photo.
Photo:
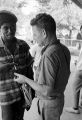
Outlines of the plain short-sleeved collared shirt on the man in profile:
[[37,96],[47,99],[55,98],[64,93],[70,74],[70,52],[59,41],[47,45],[42,50],[42,58],[37,69],[36,81],[41,85],[51,86],[51,96],[43,96],[36,92]]

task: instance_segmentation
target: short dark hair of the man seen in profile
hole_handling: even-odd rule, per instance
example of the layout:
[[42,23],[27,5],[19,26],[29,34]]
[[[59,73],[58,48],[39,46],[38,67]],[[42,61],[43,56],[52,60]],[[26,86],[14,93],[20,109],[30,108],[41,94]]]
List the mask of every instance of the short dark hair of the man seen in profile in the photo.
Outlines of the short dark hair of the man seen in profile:
[[37,14],[36,17],[31,20],[30,24],[45,29],[49,34],[56,33],[56,22],[54,18],[47,13]]

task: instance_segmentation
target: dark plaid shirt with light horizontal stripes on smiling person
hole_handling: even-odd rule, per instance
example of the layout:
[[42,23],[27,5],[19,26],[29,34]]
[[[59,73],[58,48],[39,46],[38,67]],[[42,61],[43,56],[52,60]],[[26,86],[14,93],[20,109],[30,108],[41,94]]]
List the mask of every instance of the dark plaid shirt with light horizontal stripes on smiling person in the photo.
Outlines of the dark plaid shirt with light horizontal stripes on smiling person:
[[[21,99],[19,84],[13,80],[14,72],[29,76],[28,65],[32,62],[29,46],[22,40],[16,40],[16,49],[12,55],[0,40],[0,105],[12,104]],[[16,63],[16,65],[11,65]]]

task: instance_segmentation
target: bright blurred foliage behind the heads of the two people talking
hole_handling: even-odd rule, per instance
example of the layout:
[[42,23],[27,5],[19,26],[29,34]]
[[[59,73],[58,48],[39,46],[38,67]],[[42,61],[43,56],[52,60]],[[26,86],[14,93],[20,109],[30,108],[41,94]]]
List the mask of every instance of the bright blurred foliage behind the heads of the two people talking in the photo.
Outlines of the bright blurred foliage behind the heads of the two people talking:
[[17,36],[24,39],[32,39],[29,22],[39,12],[51,14],[57,27],[63,25],[69,33],[73,29],[78,30],[82,24],[82,10],[71,0],[0,0],[0,9],[13,11],[17,15]]

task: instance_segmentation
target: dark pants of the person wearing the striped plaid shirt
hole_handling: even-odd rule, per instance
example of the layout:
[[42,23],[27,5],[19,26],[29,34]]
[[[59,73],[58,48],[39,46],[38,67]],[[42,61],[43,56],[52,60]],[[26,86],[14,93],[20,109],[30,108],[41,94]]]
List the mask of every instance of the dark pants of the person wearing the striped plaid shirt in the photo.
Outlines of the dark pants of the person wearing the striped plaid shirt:
[[23,120],[24,108],[22,106],[21,100],[11,105],[1,106],[2,120]]

